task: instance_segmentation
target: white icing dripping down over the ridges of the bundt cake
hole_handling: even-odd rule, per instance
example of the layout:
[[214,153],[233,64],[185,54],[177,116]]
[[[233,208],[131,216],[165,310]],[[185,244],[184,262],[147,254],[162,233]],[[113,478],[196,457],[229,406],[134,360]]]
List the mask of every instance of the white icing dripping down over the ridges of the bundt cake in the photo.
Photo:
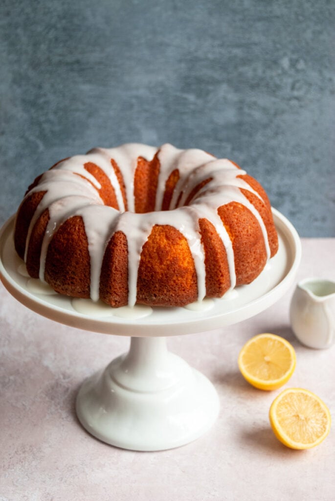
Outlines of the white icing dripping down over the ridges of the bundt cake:
[[[134,176],[139,156],[152,160],[157,153],[160,162],[155,211],[135,213]],[[113,159],[122,174],[126,187],[128,210],[117,175],[111,163]],[[92,162],[110,179],[120,210],[105,206],[99,196],[101,188],[95,177],[85,169]],[[174,170],[179,180],[172,194],[169,211],[161,211],[166,182]],[[88,240],[91,269],[91,299],[99,300],[99,284],[102,261],[107,244],[116,231],[122,231],[128,244],[128,305],[136,303],[138,268],[142,247],[154,225],[172,225],[186,238],[194,261],[198,285],[198,302],[206,295],[204,249],[201,243],[199,219],[210,221],[226,249],[230,273],[230,291],[235,287],[235,264],[232,242],[218,215],[218,207],[232,201],[246,206],[256,217],[264,236],[267,258],[270,248],[263,220],[255,207],[240,189],[248,190],[261,198],[242,178],[246,172],[238,169],[227,159],[216,159],[198,149],[181,150],[170,144],[159,149],[136,143],[118,148],[94,148],[86,155],[77,155],[60,162],[47,171],[26,197],[46,191],[32,218],[26,241],[25,261],[32,229],[40,215],[48,208],[49,222],[42,243],[40,279],[44,281],[45,262],[49,243],[61,224],[72,216],[81,216]],[[79,174],[79,175],[78,175]],[[209,180],[209,181],[208,181]],[[184,205],[192,191],[206,182],[193,198]],[[180,196],[181,195],[181,196]],[[178,206],[177,206],[178,204]]]

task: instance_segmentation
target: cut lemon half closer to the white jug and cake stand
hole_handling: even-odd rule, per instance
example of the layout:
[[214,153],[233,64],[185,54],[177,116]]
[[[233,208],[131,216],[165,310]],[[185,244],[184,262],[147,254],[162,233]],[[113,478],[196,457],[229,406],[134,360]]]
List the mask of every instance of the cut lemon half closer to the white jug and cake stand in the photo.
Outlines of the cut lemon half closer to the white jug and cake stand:
[[238,356],[242,376],[260,390],[280,388],[293,374],[295,363],[293,346],[275,334],[254,336]]

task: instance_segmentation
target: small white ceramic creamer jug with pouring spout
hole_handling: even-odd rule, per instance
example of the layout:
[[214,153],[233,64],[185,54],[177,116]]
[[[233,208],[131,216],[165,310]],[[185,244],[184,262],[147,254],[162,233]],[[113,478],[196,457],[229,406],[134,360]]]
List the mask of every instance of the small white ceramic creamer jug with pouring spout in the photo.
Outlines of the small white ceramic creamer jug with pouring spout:
[[329,348],[335,341],[335,282],[299,282],[290,306],[290,322],[298,340],[309,348]]

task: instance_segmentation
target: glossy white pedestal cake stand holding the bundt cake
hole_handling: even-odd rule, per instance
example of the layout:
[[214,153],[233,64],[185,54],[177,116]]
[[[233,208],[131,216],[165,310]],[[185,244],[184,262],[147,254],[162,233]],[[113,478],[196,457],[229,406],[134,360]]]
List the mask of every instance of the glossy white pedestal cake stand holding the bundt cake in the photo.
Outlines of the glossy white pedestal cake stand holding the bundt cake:
[[118,447],[153,451],[186,444],[213,424],[219,411],[216,390],[205,376],[167,350],[164,336],[240,322],[285,294],[294,280],[301,246],[291,223],[275,209],[273,215],[279,250],[262,274],[225,299],[195,304],[193,310],[101,305],[93,312],[89,300],[71,300],[43,289],[39,281],[23,276],[22,261],[14,249],[14,218],[5,223],[0,233],[0,277],[17,300],[71,327],[131,336],[129,352],[90,377],[79,391],[77,415],[92,435]]

